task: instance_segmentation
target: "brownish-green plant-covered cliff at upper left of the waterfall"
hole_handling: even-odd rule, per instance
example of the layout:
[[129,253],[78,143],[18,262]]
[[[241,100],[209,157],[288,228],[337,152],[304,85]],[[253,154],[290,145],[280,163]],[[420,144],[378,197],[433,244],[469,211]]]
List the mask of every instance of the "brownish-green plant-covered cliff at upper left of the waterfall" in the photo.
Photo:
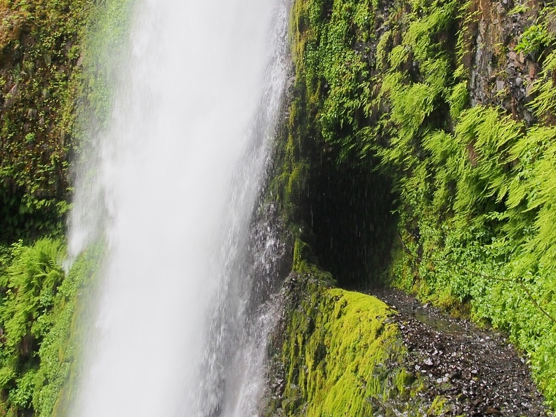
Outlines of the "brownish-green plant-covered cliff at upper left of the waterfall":
[[63,232],[69,157],[107,119],[131,4],[0,1],[0,241]]

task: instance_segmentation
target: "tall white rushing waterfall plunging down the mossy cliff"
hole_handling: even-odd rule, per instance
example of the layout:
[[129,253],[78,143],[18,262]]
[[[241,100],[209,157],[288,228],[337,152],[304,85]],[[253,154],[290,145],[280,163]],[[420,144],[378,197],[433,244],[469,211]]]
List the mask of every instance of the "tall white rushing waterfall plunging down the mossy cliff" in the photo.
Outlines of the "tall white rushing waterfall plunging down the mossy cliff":
[[[71,416],[256,416],[284,247],[253,221],[289,69],[286,0],[135,5],[72,256],[105,242]],[[259,210],[260,211],[260,210]]]

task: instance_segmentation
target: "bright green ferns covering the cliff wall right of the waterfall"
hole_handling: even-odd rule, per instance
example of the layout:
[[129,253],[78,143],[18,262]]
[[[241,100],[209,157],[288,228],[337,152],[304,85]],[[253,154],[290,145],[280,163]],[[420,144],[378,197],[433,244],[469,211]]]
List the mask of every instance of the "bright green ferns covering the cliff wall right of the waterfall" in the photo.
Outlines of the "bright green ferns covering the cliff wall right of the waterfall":
[[399,239],[383,279],[507,331],[555,407],[556,6],[505,13],[527,27],[487,48],[499,77],[512,51],[538,68],[531,123],[471,105],[478,2],[297,0],[277,170],[287,186],[274,195],[286,211],[303,206],[307,172],[323,158],[388,176]]

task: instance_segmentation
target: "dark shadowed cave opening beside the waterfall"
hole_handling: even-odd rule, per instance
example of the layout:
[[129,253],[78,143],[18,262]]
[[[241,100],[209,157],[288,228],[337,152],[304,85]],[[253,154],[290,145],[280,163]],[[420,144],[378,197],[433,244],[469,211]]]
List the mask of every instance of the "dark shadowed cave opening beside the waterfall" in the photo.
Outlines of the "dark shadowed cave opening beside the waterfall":
[[391,180],[372,164],[335,164],[322,158],[307,179],[303,223],[315,263],[340,288],[381,286],[395,239]]

